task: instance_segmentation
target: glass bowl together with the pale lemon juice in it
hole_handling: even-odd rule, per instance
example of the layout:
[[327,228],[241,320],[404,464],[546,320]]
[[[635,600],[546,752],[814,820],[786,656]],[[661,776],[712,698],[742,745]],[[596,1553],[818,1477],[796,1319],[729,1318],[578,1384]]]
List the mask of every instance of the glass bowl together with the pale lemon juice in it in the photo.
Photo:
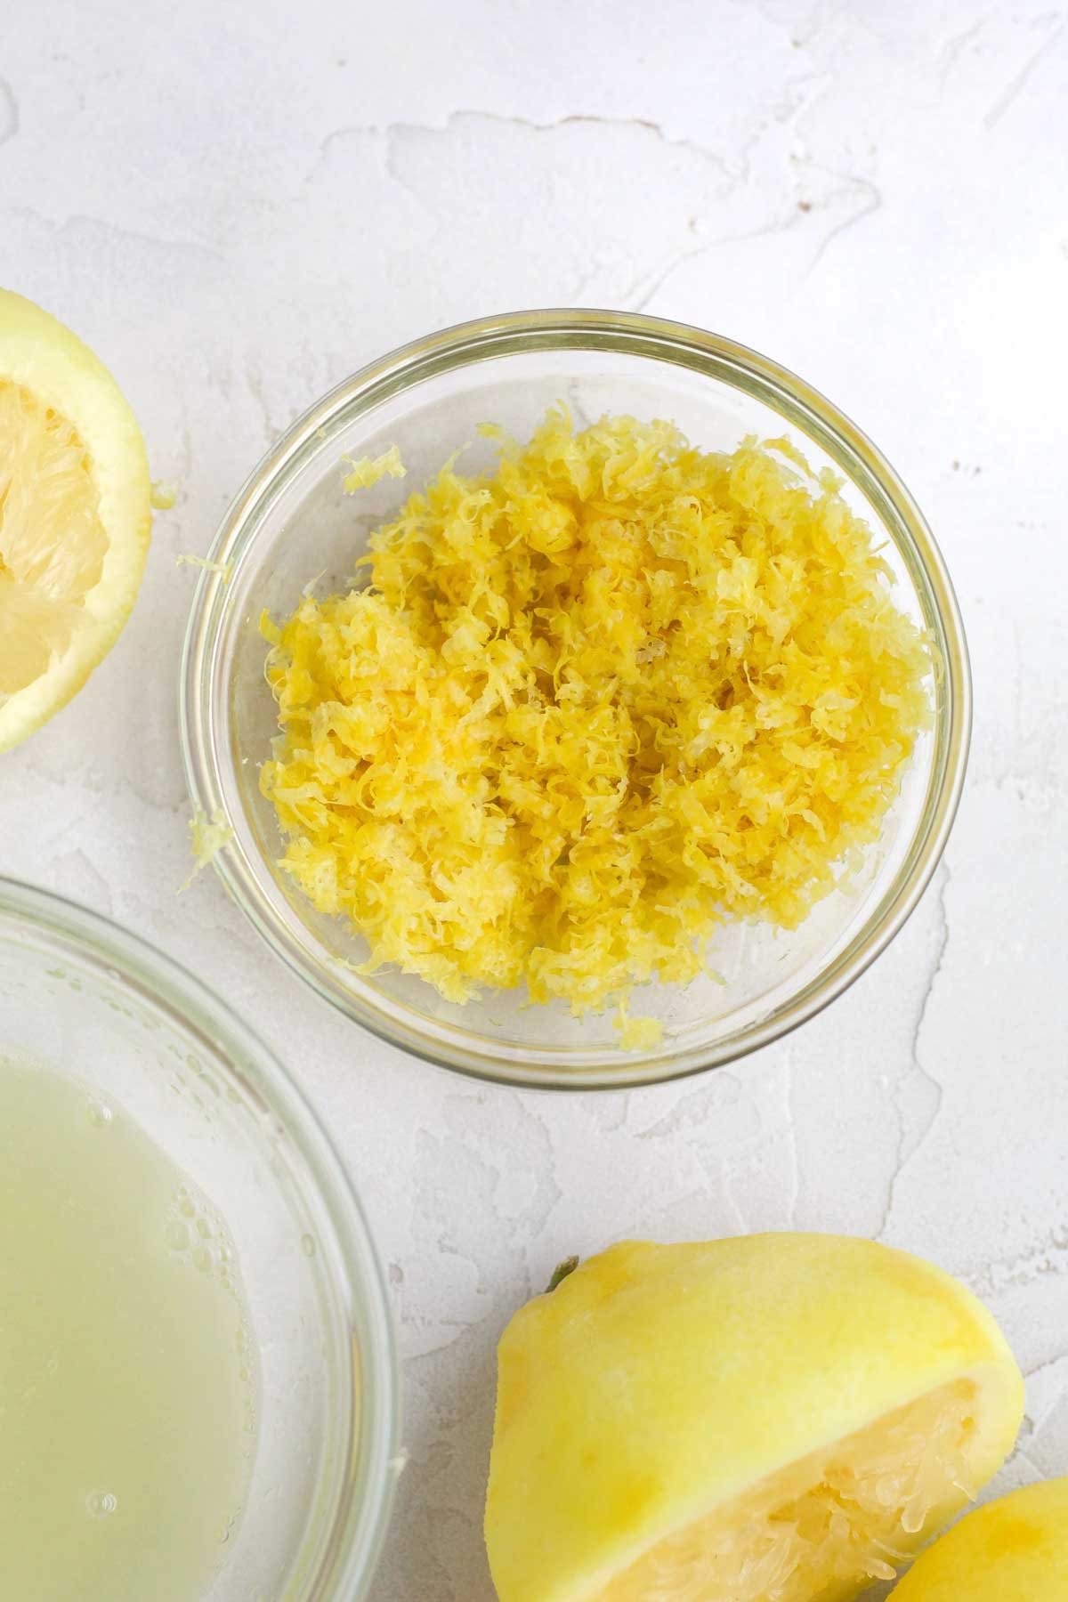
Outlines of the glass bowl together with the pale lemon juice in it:
[[397,1440],[378,1259],[271,1051],[0,879],[0,1597],[370,1594]]

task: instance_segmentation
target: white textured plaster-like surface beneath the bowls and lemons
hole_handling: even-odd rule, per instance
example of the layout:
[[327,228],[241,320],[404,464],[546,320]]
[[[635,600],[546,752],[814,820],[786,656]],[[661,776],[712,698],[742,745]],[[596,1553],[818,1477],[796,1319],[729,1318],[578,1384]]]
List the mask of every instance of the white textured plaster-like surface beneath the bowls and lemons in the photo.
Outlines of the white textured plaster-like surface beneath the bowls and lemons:
[[[210,977],[301,1075],[397,1298],[407,1447],[379,1602],[488,1602],[493,1344],[568,1251],[881,1235],[985,1294],[1030,1373],[1006,1483],[1068,1472],[1068,13],[1050,0],[11,0],[0,279],[118,375],[157,477],[147,580],[0,767],[5,871]],[[432,327],[648,308],[804,373],[927,511],[974,654],[961,817],[821,1019],[681,1088],[477,1089],[181,900],[191,569],[290,417]]]

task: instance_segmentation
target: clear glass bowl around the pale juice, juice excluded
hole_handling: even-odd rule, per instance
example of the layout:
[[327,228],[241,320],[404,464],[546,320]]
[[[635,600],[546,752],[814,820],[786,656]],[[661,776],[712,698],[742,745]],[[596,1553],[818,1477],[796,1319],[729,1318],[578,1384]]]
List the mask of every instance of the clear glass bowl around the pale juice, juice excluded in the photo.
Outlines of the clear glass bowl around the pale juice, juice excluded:
[[114,1097],[234,1238],[259,1431],[245,1507],[203,1602],[370,1596],[399,1450],[387,1296],[344,1168],[285,1069],[152,947],[10,879],[0,1072],[5,1057]]

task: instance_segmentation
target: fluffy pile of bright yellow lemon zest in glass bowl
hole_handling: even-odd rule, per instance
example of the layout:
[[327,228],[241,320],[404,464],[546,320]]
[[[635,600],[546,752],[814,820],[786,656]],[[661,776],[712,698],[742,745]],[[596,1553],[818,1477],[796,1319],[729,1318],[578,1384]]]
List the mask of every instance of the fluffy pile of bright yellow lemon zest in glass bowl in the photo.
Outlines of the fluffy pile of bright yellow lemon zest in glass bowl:
[[849,879],[929,723],[932,649],[781,442],[562,409],[525,445],[490,433],[493,471],[447,463],[375,530],[367,588],[267,620],[261,788],[367,971],[578,1016]]

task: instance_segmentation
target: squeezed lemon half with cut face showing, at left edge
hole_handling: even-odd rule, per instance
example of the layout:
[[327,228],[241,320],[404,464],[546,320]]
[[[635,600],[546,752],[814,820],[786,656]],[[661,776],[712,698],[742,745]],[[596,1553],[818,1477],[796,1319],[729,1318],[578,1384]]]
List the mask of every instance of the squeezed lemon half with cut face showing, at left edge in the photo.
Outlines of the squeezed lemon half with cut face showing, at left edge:
[[115,380],[0,290],[0,751],[82,687],[135,602],[149,466]]

